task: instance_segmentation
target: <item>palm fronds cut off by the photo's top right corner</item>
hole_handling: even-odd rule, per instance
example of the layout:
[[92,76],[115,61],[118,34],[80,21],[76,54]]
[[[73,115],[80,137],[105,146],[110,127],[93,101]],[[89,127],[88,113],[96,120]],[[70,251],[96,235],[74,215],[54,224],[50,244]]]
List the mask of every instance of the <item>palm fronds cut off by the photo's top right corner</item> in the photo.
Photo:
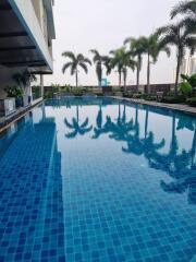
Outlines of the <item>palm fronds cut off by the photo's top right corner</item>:
[[177,3],[171,11],[171,19],[174,19],[176,15],[183,14],[184,25],[192,31],[192,33],[196,33],[196,1],[181,1]]

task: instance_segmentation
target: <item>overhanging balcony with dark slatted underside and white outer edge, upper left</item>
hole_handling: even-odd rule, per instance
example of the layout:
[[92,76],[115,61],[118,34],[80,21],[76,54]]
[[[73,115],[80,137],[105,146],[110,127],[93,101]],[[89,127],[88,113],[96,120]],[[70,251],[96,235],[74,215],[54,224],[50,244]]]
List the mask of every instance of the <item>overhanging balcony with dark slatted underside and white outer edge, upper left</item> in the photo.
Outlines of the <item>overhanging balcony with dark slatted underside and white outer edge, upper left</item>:
[[0,64],[52,72],[52,58],[33,2],[1,0],[0,15]]

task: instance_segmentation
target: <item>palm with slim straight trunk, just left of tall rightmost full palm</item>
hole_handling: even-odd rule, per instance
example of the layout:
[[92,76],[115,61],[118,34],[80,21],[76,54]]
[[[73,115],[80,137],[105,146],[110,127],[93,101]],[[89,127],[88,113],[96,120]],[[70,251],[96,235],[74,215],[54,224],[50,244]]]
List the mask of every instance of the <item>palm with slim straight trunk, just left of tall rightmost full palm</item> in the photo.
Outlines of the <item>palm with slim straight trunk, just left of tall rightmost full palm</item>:
[[[156,63],[161,51],[164,51],[168,57],[170,56],[170,48],[168,43],[160,39],[157,33],[149,35],[149,37],[144,38],[144,49],[147,53],[147,93],[150,92],[150,64]],[[150,60],[151,58],[151,60]]]

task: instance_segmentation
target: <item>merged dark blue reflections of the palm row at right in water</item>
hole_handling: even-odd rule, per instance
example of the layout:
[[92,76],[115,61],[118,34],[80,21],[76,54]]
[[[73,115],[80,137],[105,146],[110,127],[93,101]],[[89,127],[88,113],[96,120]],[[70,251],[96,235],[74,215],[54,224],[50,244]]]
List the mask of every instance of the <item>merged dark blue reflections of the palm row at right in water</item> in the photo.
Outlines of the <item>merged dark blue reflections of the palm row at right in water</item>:
[[[126,142],[126,147],[123,147],[123,152],[133,153],[136,155],[143,155],[148,159],[151,168],[160,169],[169,174],[174,181],[166,183],[161,180],[161,188],[166,192],[183,193],[188,189],[188,201],[189,203],[196,204],[196,123],[189,123],[185,118],[184,121],[177,123],[176,128],[176,114],[172,116],[172,138],[170,144],[170,151],[168,154],[160,154],[159,150],[166,144],[164,139],[160,143],[155,143],[155,135],[152,132],[148,132],[148,118],[149,111],[146,110],[145,120],[145,136],[139,138],[139,122],[138,122],[138,108],[135,111],[135,121],[126,121],[125,108],[123,116],[121,117],[121,108],[119,108],[119,116],[117,122],[112,122],[110,117],[107,117],[106,123],[99,124],[99,135],[103,133],[111,133],[109,138],[117,141]],[[102,119],[102,118],[101,118]],[[186,123],[185,123],[186,121]],[[195,129],[192,150],[186,152],[179,152],[176,130],[187,128],[191,131]],[[96,132],[95,132],[96,133]],[[99,136],[98,135],[98,136]],[[95,139],[98,136],[94,136]]]

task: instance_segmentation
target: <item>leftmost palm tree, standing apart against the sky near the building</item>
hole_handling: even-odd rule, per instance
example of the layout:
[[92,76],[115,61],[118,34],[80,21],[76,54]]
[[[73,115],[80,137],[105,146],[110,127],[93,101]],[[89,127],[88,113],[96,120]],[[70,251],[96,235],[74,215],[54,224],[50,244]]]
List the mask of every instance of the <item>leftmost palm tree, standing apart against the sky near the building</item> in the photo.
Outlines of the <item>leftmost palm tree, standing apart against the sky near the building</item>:
[[76,87],[78,85],[78,67],[81,67],[85,73],[88,72],[87,63],[91,66],[91,62],[88,58],[85,58],[82,53],[78,53],[75,56],[72,51],[64,51],[62,53],[64,58],[69,58],[71,61],[66,62],[63,68],[62,72],[65,73],[65,71],[70,68],[71,74],[75,74],[75,83]]

